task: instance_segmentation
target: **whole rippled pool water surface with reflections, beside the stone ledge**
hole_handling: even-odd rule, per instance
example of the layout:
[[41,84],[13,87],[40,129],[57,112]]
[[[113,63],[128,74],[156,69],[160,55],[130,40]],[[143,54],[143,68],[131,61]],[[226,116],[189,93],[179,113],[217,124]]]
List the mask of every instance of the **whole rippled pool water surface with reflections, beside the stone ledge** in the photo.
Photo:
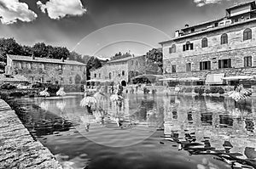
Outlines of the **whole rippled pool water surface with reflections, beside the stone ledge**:
[[21,121],[65,168],[255,168],[256,99],[127,94],[19,99]]

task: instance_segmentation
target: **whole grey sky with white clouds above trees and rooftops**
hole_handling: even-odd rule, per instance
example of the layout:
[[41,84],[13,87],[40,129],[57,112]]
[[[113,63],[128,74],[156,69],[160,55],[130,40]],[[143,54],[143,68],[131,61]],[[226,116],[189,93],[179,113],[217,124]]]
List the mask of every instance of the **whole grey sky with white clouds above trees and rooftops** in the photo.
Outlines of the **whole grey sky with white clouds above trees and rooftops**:
[[0,37],[80,54],[143,54],[185,24],[218,19],[246,0],[0,0]]

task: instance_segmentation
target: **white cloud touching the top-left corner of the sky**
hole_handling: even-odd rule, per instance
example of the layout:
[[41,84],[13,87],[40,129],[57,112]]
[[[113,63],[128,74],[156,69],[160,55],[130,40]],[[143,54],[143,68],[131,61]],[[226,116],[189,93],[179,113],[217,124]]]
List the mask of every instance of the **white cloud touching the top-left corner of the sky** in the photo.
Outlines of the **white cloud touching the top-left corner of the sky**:
[[30,22],[37,17],[26,3],[20,3],[19,0],[0,0],[0,20],[3,24],[13,24],[17,20]]

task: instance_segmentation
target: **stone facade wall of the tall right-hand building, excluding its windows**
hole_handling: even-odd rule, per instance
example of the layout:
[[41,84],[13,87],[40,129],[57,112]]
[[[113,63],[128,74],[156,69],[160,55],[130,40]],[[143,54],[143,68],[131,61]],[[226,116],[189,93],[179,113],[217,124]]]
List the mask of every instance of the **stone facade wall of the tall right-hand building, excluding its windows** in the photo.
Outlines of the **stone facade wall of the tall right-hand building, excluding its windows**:
[[[243,31],[251,28],[253,38],[243,41]],[[228,34],[228,44],[220,44],[220,37],[223,33]],[[205,78],[209,73],[225,73],[226,76],[256,75],[256,22],[249,22],[248,25],[233,25],[210,31],[192,37],[184,37],[173,42],[166,42],[163,45],[164,51],[164,73],[169,77],[197,76]],[[201,39],[207,37],[208,47],[201,48]],[[183,44],[194,43],[194,50],[183,51]],[[169,54],[172,44],[176,45],[176,53]],[[244,67],[244,57],[252,57],[252,67]],[[219,59],[231,59],[231,68],[218,69]],[[211,70],[200,70],[201,61],[210,61]],[[186,64],[191,63],[192,72],[186,72]],[[176,72],[172,73],[172,65],[176,65]]]

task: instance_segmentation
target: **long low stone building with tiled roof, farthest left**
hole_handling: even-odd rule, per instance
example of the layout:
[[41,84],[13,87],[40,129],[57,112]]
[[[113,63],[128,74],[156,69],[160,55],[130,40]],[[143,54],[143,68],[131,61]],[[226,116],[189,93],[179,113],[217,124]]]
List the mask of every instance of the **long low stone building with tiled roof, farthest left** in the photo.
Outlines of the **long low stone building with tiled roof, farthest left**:
[[5,72],[25,76],[29,82],[81,84],[86,80],[86,65],[74,60],[7,55]]

